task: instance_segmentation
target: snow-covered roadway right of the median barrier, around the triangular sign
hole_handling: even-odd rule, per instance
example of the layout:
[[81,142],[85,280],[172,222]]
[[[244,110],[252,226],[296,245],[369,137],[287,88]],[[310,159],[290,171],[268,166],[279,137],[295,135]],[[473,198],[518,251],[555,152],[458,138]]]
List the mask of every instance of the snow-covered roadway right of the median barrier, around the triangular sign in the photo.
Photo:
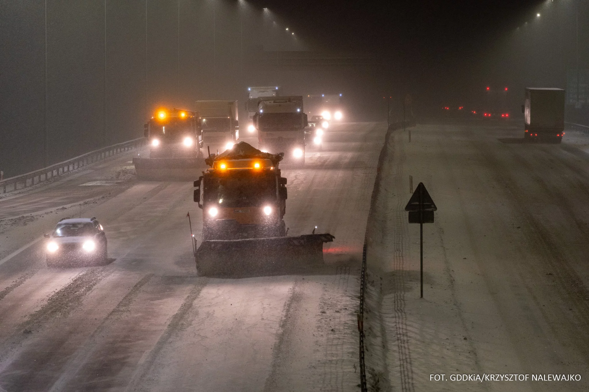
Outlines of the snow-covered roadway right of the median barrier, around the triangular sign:
[[[391,135],[368,234],[372,390],[589,390],[589,137],[527,143],[522,129],[489,121],[418,125],[411,142]],[[409,176],[438,207],[423,225],[423,299]],[[519,376],[468,381],[485,374]],[[532,381],[549,374],[575,381]]]

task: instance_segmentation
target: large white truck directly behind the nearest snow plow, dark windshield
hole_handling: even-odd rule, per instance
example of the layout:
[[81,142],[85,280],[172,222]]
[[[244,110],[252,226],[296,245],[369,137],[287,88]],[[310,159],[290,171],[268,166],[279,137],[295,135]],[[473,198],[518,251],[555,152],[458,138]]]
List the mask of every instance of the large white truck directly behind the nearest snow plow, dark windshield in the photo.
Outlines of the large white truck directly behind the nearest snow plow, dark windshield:
[[272,154],[283,152],[286,164],[305,164],[305,127],[309,123],[303,111],[303,97],[257,99],[253,124],[258,131],[259,150]]

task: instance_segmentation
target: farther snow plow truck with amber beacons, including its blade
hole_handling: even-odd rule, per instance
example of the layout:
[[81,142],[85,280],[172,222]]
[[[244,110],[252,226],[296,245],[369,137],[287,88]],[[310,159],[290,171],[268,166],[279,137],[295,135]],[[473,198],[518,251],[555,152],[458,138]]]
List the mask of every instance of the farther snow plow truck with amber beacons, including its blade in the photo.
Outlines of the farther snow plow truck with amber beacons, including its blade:
[[133,158],[141,180],[193,180],[203,160],[202,132],[198,113],[181,109],[159,109],[145,124],[148,158]]

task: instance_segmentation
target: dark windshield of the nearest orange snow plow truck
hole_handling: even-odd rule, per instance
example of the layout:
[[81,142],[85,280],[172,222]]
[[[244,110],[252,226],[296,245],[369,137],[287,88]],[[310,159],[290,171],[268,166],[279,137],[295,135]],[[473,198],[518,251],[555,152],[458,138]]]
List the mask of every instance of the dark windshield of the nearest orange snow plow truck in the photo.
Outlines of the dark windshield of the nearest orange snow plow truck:
[[205,186],[205,200],[219,203],[220,207],[261,207],[276,200],[275,181],[274,175],[249,170],[228,177],[211,178]]

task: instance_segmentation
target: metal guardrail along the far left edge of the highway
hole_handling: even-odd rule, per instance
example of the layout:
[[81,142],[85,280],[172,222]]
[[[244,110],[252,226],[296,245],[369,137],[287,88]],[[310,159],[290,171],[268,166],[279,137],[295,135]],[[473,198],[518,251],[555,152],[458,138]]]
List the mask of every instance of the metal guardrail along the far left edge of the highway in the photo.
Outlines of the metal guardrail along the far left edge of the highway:
[[55,176],[104,160],[105,158],[112,157],[112,155],[120,154],[125,151],[137,150],[138,147],[145,144],[146,140],[146,138],[142,137],[113,144],[39,170],[6,178],[5,180],[0,181],[0,190],[2,190],[2,193],[6,193],[37,185],[39,182],[47,181]]

